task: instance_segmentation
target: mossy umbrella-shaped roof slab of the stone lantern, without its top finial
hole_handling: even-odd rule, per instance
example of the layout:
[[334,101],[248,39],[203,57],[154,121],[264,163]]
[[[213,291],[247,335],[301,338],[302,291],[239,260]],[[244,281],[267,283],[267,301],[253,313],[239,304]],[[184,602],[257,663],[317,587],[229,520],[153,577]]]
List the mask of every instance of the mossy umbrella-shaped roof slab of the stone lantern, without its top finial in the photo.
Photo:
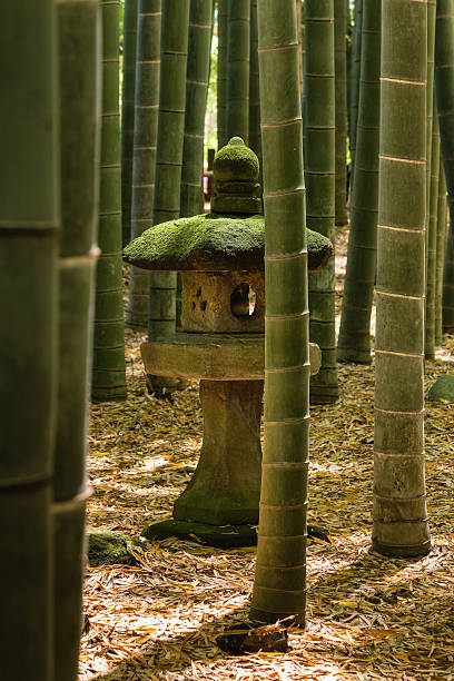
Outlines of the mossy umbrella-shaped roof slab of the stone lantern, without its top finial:
[[[333,253],[332,243],[307,229],[308,269],[322,269]],[[207,213],[156,225],[124,251],[130,265],[151,270],[263,270],[265,218]]]

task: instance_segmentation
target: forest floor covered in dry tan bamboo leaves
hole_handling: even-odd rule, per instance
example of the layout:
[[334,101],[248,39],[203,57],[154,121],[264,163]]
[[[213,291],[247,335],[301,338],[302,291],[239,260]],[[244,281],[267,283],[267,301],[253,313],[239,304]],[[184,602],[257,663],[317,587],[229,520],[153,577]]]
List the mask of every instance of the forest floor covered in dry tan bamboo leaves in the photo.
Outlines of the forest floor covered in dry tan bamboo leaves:
[[[338,304],[346,229],[338,230]],[[175,403],[145,391],[140,335],[127,330],[129,398],[91,411],[90,527],[138,537],[170,515],[201,443],[196,384]],[[223,653],[215,639],[244,620],[254,549],[148,543],[137,568],[88,569],[80,680],[454,679],[454,406],[427,403],[433,551],[420,560],[371,552],[374,366],[339,365],[340,399],[312,408],[309,522],[334,545],[308,546],[307,625],[288,653]],[[426,364],[426,387],[454,371],[454,337]]]

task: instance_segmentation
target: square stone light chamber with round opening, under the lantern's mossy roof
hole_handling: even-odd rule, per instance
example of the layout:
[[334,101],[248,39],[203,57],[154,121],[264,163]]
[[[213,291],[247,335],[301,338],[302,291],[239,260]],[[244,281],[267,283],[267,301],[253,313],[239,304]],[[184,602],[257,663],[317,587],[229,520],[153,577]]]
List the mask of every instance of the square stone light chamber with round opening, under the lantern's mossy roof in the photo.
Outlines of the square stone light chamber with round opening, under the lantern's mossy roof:
[[181,273],[181,328],[208,334],[265,330],[265,282],[260,272]]

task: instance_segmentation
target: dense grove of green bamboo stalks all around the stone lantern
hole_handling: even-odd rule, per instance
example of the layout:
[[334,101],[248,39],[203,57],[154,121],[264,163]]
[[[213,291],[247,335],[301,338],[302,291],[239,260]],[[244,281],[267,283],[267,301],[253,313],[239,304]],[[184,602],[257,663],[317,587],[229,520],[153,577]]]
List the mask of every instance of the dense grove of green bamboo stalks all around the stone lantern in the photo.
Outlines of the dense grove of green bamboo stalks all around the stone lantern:
[[[427,552],[424,357],[454,329],[454,0],[6,0],[3,18],[0,529],[18,561],[2,561],[0,640],[23,678],[76,678],[87,397],[127,398],[122,246],[204,210],[207,99],[218,148],[241,136],[264,161],[270,503],[253,612],[304,621],[308,399],[338,399],[336,361],[371,363],[374,292],[374,545]],[[333,245],[349,219],[337,345],[334,255],[306,279],[306,219]],[[165,338],[177,298],[175,273],[132,268],[126,324]]]

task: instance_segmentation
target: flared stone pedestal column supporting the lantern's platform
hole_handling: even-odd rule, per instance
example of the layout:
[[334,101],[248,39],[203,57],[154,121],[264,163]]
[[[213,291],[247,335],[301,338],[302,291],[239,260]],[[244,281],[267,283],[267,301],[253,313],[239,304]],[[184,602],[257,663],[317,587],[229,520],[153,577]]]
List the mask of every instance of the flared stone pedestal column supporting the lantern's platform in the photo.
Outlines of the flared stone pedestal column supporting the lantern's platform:
[[200,381],[204,444],[175,520],[258,523],[263,389],[263,381]]

